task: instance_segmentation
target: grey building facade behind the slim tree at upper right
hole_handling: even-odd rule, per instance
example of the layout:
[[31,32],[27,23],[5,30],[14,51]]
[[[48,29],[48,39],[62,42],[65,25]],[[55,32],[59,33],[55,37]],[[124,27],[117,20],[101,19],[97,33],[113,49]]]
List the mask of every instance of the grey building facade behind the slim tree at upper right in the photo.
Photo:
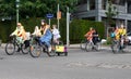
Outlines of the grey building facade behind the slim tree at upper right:
[[[114,17],[116,26],[123,24],[128,31],[131,30],[131,0],[111,0],[119,13]],[[108,9],[108,0],[81,0],[78,3],[75,16],[83,19],[103,22],[107,18],[105,12]]]

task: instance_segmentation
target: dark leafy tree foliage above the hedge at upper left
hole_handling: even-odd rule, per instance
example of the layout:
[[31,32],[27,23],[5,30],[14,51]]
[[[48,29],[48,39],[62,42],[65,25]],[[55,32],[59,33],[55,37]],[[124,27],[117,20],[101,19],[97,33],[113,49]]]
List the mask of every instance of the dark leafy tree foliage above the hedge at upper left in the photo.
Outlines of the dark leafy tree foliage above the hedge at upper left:
[[[45,17],[47,13],[57,15],[58,2],[63,16],[66,16],[67,5],[70,6],[71,12],[75,10],[76,0],[20,0],[20,18]],[[15,0],[0,0],[0,17],[15,18]]]

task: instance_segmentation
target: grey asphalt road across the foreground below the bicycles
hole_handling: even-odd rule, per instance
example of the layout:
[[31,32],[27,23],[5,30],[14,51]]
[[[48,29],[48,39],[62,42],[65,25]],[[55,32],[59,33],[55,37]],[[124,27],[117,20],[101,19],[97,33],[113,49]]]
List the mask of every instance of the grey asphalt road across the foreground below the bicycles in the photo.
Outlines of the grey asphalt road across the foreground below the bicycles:
[[112,54],[110,49],[85,52],[68,49],[68,56],[43,53],[7,55],[0,49],[0,79],[131,79],[131,53]]

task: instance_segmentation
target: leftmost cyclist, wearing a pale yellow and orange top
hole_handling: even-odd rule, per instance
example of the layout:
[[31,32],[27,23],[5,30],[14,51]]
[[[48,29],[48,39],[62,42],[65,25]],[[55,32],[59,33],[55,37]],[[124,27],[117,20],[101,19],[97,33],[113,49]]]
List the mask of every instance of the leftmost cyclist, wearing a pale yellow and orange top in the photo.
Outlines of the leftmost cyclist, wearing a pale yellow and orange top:
[[[16,36],[16,40],[19,41],[17,44],[24,43],[24,41],[26,40],[26,34],[21,23],[17,23],[16,29],[10,36]],[[25,45],[28,47],[28,43],[27,44],[25,43]],[[20,48],[17,49],[17,52],[19,51]]]

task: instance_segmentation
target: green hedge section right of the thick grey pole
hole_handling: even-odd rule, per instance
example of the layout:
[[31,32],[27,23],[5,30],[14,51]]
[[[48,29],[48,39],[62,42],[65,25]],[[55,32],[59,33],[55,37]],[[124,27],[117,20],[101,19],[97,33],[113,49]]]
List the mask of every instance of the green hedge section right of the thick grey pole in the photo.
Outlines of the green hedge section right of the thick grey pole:
[[70,24],[70,41],[72,43],[81,42],[84,39],[84,35],[93,27],[97,30],[100,38],[104,38],[104,24],[99,22],[74,19]]

